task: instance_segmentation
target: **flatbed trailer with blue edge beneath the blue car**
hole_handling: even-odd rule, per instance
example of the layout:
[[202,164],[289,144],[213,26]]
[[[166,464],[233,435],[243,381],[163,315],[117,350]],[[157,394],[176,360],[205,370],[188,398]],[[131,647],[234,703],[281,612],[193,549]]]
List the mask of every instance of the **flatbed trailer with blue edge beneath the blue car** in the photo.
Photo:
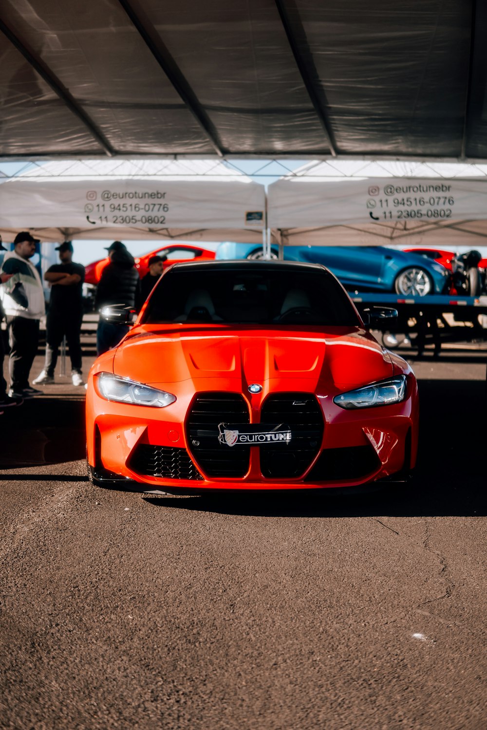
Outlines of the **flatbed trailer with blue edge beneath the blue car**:
[[[410,337],[411,347],[421,356],[426,345],[434,345],[434,356],[439,356],[442,343],[487,339],[487,329],[479,322],[479,315],[487,315],[487,296],[398,296],[397,294],[350,293],[353,303],[362,314],[370,307],[392,307],[397,310],[394,332]],[[463,325],[452,324],[464,323]],[[384,321],[384,333],[391,332]]]

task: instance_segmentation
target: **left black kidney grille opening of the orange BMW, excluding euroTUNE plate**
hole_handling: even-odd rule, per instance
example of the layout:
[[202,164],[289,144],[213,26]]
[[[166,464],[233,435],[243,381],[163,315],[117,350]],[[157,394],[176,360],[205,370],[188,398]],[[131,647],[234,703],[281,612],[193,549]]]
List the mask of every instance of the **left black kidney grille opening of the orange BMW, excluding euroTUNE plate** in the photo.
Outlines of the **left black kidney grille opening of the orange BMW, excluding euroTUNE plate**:
[[208,477],[244,477],[250,464],[250,447],[230,447],[218,442],[218,424],[246,426],[248,405],[238,393],[200,393],[186,420],[188,450]]

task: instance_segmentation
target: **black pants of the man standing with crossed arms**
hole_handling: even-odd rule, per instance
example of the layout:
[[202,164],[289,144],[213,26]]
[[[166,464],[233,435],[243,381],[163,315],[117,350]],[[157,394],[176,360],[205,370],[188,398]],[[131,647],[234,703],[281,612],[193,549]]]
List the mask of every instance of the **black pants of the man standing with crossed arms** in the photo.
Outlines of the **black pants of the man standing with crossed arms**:
[[55,365],[58,361],[59,345],[66,335],[71,360],[71,372],[81,372],[80,331],[83,312],[59,312],[49,310],[46,322],[46,361],[44,369],[54,377]]

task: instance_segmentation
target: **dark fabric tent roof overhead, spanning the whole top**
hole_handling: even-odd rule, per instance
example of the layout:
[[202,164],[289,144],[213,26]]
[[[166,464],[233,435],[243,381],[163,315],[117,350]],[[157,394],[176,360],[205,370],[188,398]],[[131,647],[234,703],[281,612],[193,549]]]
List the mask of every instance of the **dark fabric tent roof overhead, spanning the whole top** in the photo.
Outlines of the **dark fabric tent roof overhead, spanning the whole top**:
[[0,156],[487,160],[487,4],[4,0]]

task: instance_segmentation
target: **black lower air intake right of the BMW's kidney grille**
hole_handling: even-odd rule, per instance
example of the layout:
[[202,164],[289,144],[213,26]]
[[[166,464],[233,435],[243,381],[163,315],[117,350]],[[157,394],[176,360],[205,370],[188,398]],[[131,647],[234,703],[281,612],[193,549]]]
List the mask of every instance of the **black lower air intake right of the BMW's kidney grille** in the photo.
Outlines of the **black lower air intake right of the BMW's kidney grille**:
[[380,466],[372,445],[324,449],[305,482],[336,482],[367,477]]

